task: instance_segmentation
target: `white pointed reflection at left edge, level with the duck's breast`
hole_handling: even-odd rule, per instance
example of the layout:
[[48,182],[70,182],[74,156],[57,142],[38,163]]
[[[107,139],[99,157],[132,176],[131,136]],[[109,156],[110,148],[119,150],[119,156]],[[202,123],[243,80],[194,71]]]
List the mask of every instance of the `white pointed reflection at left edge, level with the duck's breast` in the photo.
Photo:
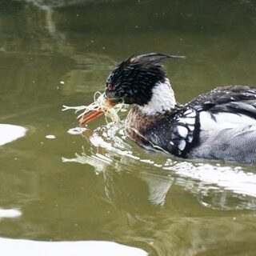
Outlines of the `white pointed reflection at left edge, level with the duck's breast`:
[[13,142],[26,135],[26,128],[9,124],[0,124],[0,146]]

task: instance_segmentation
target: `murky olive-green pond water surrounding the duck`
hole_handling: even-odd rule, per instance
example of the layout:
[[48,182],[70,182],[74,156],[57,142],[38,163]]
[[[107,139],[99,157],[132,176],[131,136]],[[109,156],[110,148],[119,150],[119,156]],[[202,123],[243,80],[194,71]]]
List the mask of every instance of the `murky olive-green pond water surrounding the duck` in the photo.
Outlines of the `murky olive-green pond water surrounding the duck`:
[[122,126],[98,118],[81,130],[62,112],[89,104],[134,53],[186,55],[166,62],[179,102],[256,85],[255,14],[238,0],[2,0],[0,236],[255,255],[254,166],[148,152]]

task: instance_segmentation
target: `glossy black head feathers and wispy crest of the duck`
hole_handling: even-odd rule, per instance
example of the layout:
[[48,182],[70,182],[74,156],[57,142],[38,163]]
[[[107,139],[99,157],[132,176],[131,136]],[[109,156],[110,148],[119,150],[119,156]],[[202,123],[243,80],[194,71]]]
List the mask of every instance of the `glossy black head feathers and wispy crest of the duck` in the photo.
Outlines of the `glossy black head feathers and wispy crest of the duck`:
[[159,63],[166,58],[185,57],[158,53],[130,56],[110,73],[106,85],[111,84],[113,89],[106,89],[106,95],[114,98],[116,102],[135,103],[140,106],[148,103],[154,86],[166,80],[165,70]]

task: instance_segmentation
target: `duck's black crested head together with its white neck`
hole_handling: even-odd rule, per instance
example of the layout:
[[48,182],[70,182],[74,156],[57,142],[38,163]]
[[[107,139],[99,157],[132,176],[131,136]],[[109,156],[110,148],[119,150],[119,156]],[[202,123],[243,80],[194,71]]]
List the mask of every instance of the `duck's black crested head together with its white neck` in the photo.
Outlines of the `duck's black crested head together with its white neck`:
[[[175,104],[174,93],[170,87],[169,79],[166,78],[166,72],[160,63],[166,58],[185,57],[150,53],[133,55],[118,64],[106,79],[104,98],[107,105],[136,104],[145,110],[150,106],[152,113],[158,108],[159,110],[161,107],[164,108],[167,104],[173,107]],[[160,107],[159,104],[162,106]],[[104,112],[106,111],[102,110],[102,113]],[[90,118],[91,120],[92,118]],[[81,120],[81,118],[79,121],[81,123],[87,122],[87,120]]]

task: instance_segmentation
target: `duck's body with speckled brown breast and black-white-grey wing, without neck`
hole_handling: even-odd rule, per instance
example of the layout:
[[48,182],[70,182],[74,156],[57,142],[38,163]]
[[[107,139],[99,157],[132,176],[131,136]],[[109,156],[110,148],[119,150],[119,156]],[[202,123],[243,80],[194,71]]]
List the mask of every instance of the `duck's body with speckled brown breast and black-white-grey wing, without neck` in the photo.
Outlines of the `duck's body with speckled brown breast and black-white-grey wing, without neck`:
[[139,145],[182,158],[256,162],[256,87],[226,86],[150,115],[134,106],[126,133]]

